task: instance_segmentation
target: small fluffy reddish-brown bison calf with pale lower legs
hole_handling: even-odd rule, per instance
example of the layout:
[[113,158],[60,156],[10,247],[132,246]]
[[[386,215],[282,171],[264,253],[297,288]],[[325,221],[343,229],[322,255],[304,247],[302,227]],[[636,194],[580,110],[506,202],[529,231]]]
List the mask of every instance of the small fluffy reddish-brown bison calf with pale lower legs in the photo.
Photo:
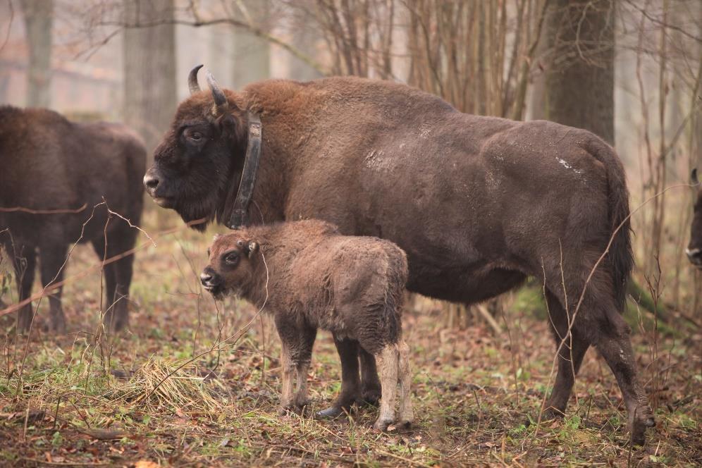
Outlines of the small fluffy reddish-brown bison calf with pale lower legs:
[[[271,311],[282,344],[281,407],[307,404],[307,369],[317,328],[359,343],[381,374],[381,409],[374,424],[412,422],[409,347],[402,340],[407,258],[387,240],[340,235],[324,221],[276,223],[216,237],[200,276],[215,297],[235,293]],[[293,395],[293,374],[297,391]]]

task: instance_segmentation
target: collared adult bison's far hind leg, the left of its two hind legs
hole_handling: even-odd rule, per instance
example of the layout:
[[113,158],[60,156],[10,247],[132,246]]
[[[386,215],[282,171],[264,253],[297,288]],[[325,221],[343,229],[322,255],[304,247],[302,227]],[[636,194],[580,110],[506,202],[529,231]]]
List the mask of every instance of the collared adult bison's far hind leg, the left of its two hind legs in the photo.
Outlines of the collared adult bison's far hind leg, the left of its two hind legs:
[[[577,376],[585,352],[590,347],[590,344],[576,330],[571,330],[571,335],[567,335],[568,316],[558,297],[547,290],[546,301],[548,303],[548,313],[556,350],[560,347],[560,352],[558,353],[558,374],[556,374],[553,390],[548,400],[546,400],[543,412],[545,419],[553,419],[553,417],[565,414],[565,408],[575,383],[575,376]],[[566,338],[566,340],[561,346],[563,338]]]

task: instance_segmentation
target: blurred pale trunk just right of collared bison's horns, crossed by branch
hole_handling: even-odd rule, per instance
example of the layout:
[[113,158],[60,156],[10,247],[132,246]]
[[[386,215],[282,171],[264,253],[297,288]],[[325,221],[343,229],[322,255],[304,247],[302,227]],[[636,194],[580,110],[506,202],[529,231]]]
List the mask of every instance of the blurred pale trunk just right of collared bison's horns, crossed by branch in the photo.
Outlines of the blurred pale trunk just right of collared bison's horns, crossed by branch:
[[[269,1],[245,0],[243,5],[251,23],[264,27],[269,20]],[[232,79],[234,89],[240,90],[250,82],[264,80],[271,76],[271,45],[266,39],[256,37],[243,27],[234,30],[234,63]]]

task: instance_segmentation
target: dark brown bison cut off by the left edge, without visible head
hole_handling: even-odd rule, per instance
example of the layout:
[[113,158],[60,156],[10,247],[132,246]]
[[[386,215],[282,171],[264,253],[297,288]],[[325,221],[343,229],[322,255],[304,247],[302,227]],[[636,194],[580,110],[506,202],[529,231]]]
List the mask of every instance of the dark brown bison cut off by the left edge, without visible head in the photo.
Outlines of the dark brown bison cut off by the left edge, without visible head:
[[[20,301],[31,295],[37,250],[46,287],[62,281],[68,245],[79,238],[90,241],[101,259],[134,246],[137,230],[118,217],[110,216],[108,223],[107,211],[135,226],[140,222],[146,149],[128,128],[3,106],[0,161],[0,240],[16,272]],[[103,200],[106,206],[93,209]],[[105,266],[104,321],[113,330],[127,324],[122,299],[129,293],[132,263],[130,255]],[[63,333],[61,288],[49,296],[49,311],[49,329]],[[30,303],[18,311],[18,330],[26,331],[31,322]]]

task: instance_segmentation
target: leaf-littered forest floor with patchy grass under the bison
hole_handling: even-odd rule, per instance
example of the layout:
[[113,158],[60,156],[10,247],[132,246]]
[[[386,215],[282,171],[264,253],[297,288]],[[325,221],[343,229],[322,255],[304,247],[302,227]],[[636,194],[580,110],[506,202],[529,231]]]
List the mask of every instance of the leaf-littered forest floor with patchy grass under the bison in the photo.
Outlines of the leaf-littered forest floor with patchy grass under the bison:
[[[529,292],[513,297],[498,317],[497,336],[481,323],[448,327],[430,301],[421,312],[405,313],[411,429],[374,431],[374,407],[335,421],[281,417],[280,347],[270,319],[235,299],[217,305],[199,288],[210,240],[189,230],[156,238],[156,246],[140,240],[148,247],[135,261],[130,327],[116,338],[96,340],[99,270],[66,285],[68,335],[42,330],[46,300],[28,343],[13,335],[13,314],[0,318],[8,333],[0,363],[0,465],[702,464],[699,328],[636,327],[634,347],[657,426],[645,447],[631,448],[620,391],[593,350],[565,419],[535,424],[553,384],[554,346]],[[88,247],[78,247],[67,277],[96,262]],[[324,331],[308,381],[307,411],[314,414],[340,387],[338,357]]]

